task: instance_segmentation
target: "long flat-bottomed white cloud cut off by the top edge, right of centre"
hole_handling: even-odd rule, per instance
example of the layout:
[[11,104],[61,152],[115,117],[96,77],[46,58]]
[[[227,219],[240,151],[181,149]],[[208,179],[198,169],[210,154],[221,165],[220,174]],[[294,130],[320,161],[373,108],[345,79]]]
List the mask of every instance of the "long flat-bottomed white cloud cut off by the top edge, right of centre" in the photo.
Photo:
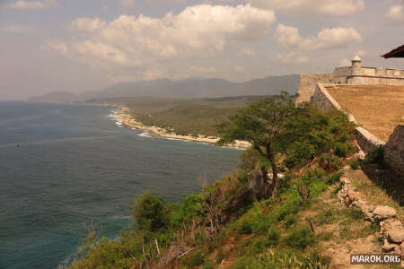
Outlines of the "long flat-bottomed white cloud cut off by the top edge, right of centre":
[[288,13],[343,16],[364,11],[364,0],[246,0],[254,6]]

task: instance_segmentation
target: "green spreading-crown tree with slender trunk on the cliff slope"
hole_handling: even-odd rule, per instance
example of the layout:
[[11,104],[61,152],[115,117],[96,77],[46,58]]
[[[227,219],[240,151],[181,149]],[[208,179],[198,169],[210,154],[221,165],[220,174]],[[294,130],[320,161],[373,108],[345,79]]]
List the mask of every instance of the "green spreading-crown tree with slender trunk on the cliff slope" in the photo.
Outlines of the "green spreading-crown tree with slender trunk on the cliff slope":
[[252,102],[247,108],[242,108],[229,117],[229,121],[217,126],[221,139],[219,143],[233,143],[235,140],[244,140],[268,159],[272,169],[272,194],[277,192],[277,152],[285,151],[285,129],[294,116],[302,108],[296,107],[296,95],[282,91],[273,97]]

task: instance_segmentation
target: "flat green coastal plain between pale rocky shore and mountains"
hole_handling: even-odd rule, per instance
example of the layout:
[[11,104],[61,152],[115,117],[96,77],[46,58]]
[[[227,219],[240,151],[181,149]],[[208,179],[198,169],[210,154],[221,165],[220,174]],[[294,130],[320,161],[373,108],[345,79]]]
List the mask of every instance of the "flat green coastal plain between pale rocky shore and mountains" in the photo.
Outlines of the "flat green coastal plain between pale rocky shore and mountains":
[[265,96],[227,97],[199,100],[117,100],[130,108],[145,126],[157,126],[180,135],[218,136],[215,125],[245,107],[251,100]]

